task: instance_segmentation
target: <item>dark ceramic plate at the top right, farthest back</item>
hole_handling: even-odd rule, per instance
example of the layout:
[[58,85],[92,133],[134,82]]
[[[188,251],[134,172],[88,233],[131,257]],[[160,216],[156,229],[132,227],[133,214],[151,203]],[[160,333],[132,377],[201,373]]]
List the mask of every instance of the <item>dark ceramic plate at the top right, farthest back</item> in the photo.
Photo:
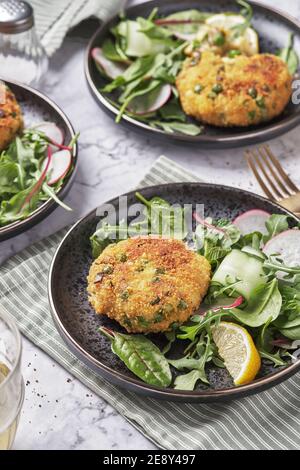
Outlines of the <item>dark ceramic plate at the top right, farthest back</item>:
[[[294,18],[285,15],[273,8],[249,2],[254,7],[253,25],[259,33],[261,51],[276,53],[279,49],[286,46],[289,34],[295,34],[295,49],[300,56],[300,23]],[[180,10],[189,8],[201,9],[208,12],[238,11],[234,0],[152,0],[133,6],[126,10],[129,18],[138,16],[146,17],[153,8],[158,7],[159,13],[168,15]],[[109,22],[103,24],[92,37],[85,57],[85,74],[90,90],[101,108],[112,118],[118,114],[117,108],[112,105],[107,95],[99,91],[106,83],[97,70],[94,61],[91,58],[93,47],[99,47],[110,35],[110,29],[119,21],[115,16]],[[192,122],[192,120],[191,120]],[[296,127],[300,122],[300,107],[290,103],[284,113],[272,122],[262,124],[252,128],[225,129],[212,126],[205,126],[205,132],[202,135],[193,137],[179,133],[169,134],[163,130],[153,129],[145,123],[139,122],[129,116],[124,116],[121,123],[129,129],[140,131],[145,136],[156,136],[158,139],[168,141],[182,141],[185,144],[197,144],[199,147],[206,148],[230,148],[241,147],[243,145],[255,144],[267,141],[276,136],[284,134]]]

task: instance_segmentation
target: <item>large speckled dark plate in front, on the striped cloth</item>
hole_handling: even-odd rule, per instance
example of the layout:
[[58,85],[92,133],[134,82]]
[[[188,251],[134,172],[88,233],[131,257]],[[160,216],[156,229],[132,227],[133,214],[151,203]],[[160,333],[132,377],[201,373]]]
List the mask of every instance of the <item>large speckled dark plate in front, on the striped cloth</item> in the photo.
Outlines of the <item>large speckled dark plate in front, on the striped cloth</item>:
[[[232,219],[253,208],[270,213],[285,213],[284,209],[264,198],[226,186],[175,183],[146,188],[142,193],[146,198],[161,196],[172,204],[202,203],[205,204],[206,216],[218,218]],[[134,192],[127,196],[129,205],[136,202]],[[109,203],[117,209],[118,198]],[[96,315],[88,302],[86,277],[92,263],[89,237],[94,233],[98,221],[95,210],[80,220],[65,236],[54,256],[48,286],[51,311],[59,333],[73,353],[94,371],[114,384],[147,396],[185,402],[208,402],[260,392],[287,379],[300,369],[300,361],[281,370],[264,365],[257,380],[250,385],[236,388],[226,371],[211,367],[208,370],[211,386],[199,383],[194,392],[156,388],[142,382],[112,353],[109,341],[97,332],[101,325],[119,331],[122,328],[109,318]],[[165,342],[163,335],[152,335],[151,339],[159,346],[163,346]],[[179,344],[173,350],[175,356],[178,348]]]

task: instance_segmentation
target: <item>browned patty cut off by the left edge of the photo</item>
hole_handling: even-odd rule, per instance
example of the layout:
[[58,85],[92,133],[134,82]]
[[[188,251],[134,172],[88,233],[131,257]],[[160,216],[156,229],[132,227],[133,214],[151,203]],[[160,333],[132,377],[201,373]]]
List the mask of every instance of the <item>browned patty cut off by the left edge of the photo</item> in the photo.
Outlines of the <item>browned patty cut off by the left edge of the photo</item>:
[[0,84],[0,151],[5,149],[22,129],[20,106],[13,92]]

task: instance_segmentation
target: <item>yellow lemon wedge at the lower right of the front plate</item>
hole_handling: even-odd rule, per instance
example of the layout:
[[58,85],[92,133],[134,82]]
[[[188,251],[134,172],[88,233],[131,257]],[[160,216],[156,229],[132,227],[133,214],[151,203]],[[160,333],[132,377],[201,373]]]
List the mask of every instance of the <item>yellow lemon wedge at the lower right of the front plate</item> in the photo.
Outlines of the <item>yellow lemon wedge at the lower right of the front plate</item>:
[[261,358],[248,331],[235,323],[221,322],[213,328],[212,336],[235,385],[252,382]]

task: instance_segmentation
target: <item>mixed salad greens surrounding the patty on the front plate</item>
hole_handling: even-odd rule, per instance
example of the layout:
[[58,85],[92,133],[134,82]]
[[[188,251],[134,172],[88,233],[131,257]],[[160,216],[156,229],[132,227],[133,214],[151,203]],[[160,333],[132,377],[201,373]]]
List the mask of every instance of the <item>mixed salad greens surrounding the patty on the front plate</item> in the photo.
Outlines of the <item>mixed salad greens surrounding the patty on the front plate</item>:
[[[169,236],[165,227],[174,223],[173,214],[165,209],[170,209],[170,204],[160,197],[147,200],[140,193],[136,195],[144,204],[144,218],[133,224],[135,234]],[[164,221],[166,217],[168,224]],[[180,225],[186,227],[184,211],[180,217]],[[266,363],[275,367],[288,365],[293,360],[289,350],[300,345],[297,343],[300,341],[300,259],[296,258],[294,266],[286,266],[278,254],[266,255],[264,247],[274,237],[280,234],[284,237],[285,233],[299,228],[289,229],[289,217],[277,214],[267,219],[267,234],[255,231],[255,227],[252,233],[242,234],[235,222],[225,219],[202,220],[196,215],[194,218],[198,222],[196,230],[193,234],[186,230],[184,236],[185,240],[193,240],[193,249],[212,265],[206,311],[195,314],[184,325],[174,324],[172,330],[165,333],[167,343],[162,351],[143,335],[107,333],[104,328],[100,332],[109,337],[113,352],[134,374],[162,387],[172,385],[175,389],[194,390],[199,381],[204,386],[209,385],[208,366],[224,368],[212,336],[213,328],[221,321],[245,327]],[[153,221],[153,230],[150,230],[150,221]],[[122,235],[129,236],[130,224],[123,221],[117,228]],[[115,229],[105,223],[91,237],[95,256],[116,241],[110,238]],[[127,346],[122,348],[125,341]],[[296,341],[296,346],[291,341]],[[176,353],[174,358],[178,342],[183,342],[183,348],[179,349],[184,352],[180,357]],[[149,364],[155,376],[149,372]]]

